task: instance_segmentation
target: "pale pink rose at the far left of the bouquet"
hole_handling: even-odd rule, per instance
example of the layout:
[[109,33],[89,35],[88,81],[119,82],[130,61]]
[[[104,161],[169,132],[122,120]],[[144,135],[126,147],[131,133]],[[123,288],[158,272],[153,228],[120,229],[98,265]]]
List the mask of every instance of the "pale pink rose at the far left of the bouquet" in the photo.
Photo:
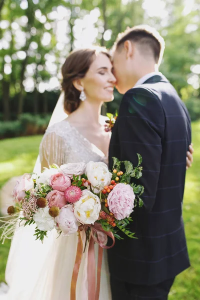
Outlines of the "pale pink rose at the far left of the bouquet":
[[25,197],[25,191],[32,190],[34,188],[34,182],[31,179],[31,175],[28,173],[23,174],[16,180],[16,184],[12,191],[12,196],[15,201],[20,202]]

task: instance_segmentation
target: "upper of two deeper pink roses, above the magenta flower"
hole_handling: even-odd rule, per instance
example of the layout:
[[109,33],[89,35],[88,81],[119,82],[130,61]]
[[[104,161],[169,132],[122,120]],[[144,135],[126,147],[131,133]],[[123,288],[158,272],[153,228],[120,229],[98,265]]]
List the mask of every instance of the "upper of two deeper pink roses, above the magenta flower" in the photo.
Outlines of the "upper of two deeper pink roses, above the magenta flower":
[[62,173],[56,173],[50,176],[49,185],[52,189],[64,192],[71,185],[71,179]]

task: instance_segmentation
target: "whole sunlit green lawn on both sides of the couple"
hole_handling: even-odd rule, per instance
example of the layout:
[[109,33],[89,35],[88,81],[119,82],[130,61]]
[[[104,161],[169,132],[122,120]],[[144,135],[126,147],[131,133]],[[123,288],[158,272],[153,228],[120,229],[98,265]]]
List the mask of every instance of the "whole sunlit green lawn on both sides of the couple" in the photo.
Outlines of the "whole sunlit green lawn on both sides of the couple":
[[[194,162],[186,174],[183,218],[191,267],[179,274],[171,288],[169,300],[200,299],[200,121],[192,124]],[[11,138],[0,141],[0,186],[11,176],[31,172],[41,136]],[[0,281],[10,242],[0,245]]]

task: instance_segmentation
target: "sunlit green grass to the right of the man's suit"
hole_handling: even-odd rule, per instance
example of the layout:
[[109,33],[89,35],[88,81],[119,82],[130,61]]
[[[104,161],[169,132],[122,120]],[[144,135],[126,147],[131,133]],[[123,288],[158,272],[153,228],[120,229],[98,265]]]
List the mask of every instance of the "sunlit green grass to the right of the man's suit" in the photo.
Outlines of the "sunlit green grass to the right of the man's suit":
[[179,274],[169,300],[200,299],[200,122],[192,124],[194,162],[186,173],[183,219],[191,267]]

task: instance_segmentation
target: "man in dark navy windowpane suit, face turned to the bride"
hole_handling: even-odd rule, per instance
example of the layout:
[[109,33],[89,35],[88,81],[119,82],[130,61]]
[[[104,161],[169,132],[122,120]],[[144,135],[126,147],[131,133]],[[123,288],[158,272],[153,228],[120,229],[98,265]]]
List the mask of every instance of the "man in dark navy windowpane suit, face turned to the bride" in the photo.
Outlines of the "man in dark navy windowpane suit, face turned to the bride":
[[175,276],[189,267],[182,198],[190,118],[174,87],[157,70],[164,41],[149,26],[135,26],[115,42],[116,87],[124,96],[112,130],[112,157],[137,165],[143,175],[142,208],[135,207],[130,230],[108,250],[112,300],[166,300]]

